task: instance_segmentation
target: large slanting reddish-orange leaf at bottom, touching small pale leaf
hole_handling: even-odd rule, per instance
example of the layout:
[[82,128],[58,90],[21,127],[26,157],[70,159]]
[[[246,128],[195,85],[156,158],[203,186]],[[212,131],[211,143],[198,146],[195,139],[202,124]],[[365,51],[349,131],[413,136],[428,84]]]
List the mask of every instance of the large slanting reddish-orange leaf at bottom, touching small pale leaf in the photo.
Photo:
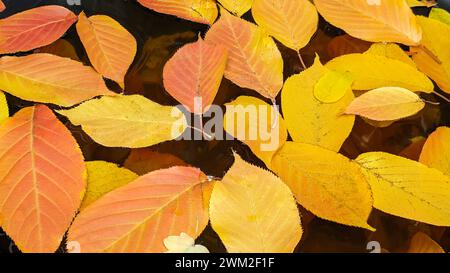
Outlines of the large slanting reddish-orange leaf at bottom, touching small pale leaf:
[[164,252],[163,240],[170,235],[196,238],[209,219],[212,183],[207,180],[190,167],[141,176],[83,210],[68,242],[79,244],[81,252]]

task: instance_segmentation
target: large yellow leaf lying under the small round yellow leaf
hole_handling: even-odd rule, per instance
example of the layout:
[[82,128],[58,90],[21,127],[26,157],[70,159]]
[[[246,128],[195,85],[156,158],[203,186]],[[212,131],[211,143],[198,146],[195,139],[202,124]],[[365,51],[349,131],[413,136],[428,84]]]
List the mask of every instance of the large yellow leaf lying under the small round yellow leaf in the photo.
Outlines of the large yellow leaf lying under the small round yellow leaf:
[[314,86],[330,70],[318,58],[314,65],[290,77],[281,92],[281,105],[288,131],[294,141],[339,151],[350,134],[354,116],[342,115],[354,99],[347,94],[336,103],[322,103],[314,97]]

